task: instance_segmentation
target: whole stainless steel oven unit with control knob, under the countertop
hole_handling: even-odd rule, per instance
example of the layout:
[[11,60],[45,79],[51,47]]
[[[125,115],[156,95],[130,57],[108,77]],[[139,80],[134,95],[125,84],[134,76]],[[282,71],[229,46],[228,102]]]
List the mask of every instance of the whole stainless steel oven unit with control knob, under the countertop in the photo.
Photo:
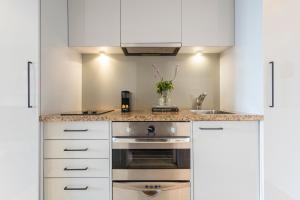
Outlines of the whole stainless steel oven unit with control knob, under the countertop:
[[113,122],[113,200],[190,198],[189,122]]

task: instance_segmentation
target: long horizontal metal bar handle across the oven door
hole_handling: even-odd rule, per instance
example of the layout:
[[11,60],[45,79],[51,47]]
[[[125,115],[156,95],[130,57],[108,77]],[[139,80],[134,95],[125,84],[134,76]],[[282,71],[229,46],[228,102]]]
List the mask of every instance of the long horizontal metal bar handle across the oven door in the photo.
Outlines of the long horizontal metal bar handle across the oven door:
[[112,138],[113,143],[127,143],[127,144],[147,144],[147,143],[162,143],[162,144],[176,144],[189,143],[190,138]]

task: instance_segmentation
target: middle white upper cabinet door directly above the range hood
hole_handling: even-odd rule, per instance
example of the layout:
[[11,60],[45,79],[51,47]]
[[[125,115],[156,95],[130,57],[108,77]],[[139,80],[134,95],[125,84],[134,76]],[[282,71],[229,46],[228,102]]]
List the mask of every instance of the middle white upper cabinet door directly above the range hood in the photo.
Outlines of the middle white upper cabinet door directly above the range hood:
[[181,0],[121,0],[122,44],[181,43]]

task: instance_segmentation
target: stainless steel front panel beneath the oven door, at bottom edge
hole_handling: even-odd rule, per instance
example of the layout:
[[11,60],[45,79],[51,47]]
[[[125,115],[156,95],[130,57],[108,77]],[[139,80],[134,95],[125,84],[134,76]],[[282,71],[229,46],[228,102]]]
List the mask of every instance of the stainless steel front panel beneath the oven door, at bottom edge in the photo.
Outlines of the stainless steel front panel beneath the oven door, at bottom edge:
[[189,200],[189,182],[114,182],[113,200]]

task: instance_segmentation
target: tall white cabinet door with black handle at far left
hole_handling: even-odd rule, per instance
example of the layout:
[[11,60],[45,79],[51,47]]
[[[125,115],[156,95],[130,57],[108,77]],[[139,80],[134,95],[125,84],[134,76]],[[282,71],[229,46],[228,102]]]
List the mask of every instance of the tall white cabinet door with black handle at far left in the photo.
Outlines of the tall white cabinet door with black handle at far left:
[[0,199],[39,197],[39,1],[0,1]]

